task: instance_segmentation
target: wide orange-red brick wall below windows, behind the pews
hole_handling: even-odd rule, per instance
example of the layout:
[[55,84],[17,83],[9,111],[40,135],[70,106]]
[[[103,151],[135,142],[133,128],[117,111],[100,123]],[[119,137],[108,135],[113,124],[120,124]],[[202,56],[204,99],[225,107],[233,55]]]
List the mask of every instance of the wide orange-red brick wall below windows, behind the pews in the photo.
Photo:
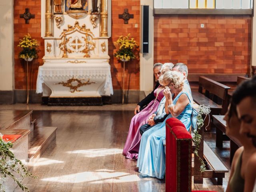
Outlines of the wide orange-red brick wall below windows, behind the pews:
[[154,62],[184,62],[190,73],[248,73],[251,22],[250,16],[155,16]]

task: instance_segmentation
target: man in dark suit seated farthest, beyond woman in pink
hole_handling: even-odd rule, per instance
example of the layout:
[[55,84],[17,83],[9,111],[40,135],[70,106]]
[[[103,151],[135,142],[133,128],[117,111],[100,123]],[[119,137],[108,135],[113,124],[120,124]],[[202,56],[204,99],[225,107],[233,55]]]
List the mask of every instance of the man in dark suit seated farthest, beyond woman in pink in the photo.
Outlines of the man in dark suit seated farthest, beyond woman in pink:
[[[154,71],[154,76],[155,76],[155,80],[157,81],[156,86],[154,88],[154,90],[156,88],[158,88],[158,86],[160,85],[158,82],[158,78],[161,75],[160,70],[162,69],[163,64],[162,63],[155,63],[154,67],[153,67],[153,71]],[[145,106],[147,106],[153,99],[155,99],[156,97],[154,96],[154,90],[148,94],[148,96],[146,96],[144,99],[142,99],[136,106],[136,108],[134,109],[134,114],[136,115],[138,112],[140,112],[140,110],[142,110]]]

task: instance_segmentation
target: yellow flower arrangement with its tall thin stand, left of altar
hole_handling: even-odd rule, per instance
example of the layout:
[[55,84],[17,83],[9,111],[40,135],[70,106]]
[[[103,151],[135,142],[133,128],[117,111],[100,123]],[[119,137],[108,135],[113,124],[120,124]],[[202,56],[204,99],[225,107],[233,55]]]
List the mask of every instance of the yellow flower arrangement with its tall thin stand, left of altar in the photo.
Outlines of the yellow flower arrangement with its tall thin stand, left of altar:
[[[19,58],[24,59],[26,61],[25,70],[26,70],[27,104],[28,104],[29,90],[30,90],[30,88],[28,88],[28,62],[32,61],[34,58],[38,58],[38,54],[37,54],[38,50],[36,49],[38,47],[38,42],[36,39],[32,39],[30,34],[27,34],[27,35],[24,35],[22,39],[20,39],[18,47],[22,48],[22,50],[19,53]],[[33,70],[33,65],[31,70]]]

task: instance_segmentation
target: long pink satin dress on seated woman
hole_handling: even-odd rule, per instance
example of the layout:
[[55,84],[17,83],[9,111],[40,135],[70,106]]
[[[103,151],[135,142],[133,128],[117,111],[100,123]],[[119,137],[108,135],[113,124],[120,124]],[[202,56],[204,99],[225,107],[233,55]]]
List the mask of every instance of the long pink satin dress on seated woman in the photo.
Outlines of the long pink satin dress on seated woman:
[[[159,86],[160,87],[160,86]],[[159,88],[158,87],[158,88]],[[164,89],[158,95],[158,88],[154,91],[156,99],[152,100],[146,108],[134,115],[132,118],[128,136],[124,144],[123,155],[129,159],[137,159],[140,148],[140,127],[148,122],[148,118],[157,110],[158,105],[164,97]]]

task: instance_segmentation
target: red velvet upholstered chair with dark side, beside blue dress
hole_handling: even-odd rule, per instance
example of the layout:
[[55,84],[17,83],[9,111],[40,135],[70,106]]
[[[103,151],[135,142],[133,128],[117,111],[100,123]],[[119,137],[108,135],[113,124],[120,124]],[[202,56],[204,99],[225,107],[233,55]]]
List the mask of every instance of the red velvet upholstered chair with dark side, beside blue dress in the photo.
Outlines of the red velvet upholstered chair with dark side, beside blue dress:
[[191,171],[192,136],[180,120],[169,118],[166,121],[166,192],[191,192]]

